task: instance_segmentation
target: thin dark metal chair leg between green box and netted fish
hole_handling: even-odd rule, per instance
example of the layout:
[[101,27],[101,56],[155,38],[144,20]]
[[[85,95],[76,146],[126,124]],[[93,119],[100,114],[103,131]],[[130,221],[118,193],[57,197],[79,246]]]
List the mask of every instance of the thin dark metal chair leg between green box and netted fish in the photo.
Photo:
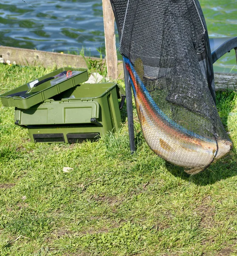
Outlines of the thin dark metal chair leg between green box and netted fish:
[[136,151],[135,147],[135,136],[134,136],[134,122],[133,122],[133,109],[132,109],[132,93],[131,93],[131,83],[129,82],[129,75],[124,69],[124,80],[125,80],[125,90],[126,90],[126,105],[128,114],[128,134],[130,141],[131,154]]

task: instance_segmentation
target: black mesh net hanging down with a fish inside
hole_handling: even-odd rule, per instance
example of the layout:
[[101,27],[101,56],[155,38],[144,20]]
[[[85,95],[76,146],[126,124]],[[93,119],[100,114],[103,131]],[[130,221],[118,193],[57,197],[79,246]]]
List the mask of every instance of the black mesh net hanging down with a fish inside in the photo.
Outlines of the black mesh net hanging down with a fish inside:
[[232,143],[200,67],[207,43],[195,1],[111,2],[146,142],[187,173],[203,171]]

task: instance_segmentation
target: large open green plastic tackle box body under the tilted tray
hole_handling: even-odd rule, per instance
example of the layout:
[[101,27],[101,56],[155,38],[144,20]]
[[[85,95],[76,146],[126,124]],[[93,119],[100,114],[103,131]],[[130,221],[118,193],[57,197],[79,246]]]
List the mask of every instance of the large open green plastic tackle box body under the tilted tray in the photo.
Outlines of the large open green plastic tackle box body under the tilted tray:
[[15,124],[28,128],[34,143],[93,141],[118,131],[124,100],[118,84],[80,84],[31,108],[15,108]]

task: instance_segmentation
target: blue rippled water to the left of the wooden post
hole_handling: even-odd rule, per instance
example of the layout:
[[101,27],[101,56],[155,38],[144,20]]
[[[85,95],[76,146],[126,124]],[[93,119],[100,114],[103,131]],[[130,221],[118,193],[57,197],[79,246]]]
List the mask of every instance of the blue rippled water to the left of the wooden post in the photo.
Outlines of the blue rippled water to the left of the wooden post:
[[22,0],[1,0],[0,45],[55,52],[86,47],[92,55],[105,47],[101,0],[26,2],[35,8]]

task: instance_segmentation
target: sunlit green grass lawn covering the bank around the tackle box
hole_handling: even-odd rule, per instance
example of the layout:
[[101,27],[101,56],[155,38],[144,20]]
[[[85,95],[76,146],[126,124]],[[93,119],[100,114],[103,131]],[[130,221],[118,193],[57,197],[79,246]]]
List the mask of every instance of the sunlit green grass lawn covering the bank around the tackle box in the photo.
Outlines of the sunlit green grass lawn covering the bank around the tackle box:
[[[50,71],[0,64],[0,93]],[[234,149],[192,177],[148,148],[135,109],[131,155],[126,123],[96,143],[33,144],[0,103],[0,255],[237,255],[236,93],[217,102]]]

